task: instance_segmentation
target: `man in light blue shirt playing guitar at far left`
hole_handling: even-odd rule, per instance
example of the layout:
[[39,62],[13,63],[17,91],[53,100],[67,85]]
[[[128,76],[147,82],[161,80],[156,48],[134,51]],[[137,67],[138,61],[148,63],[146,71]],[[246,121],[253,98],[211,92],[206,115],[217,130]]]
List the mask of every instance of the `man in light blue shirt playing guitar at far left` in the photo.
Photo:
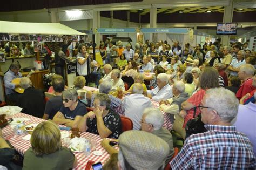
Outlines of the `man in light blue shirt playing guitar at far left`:
[[5,95],[10,101],[17,101],[19,93],[16,93],[14,89],[19,87],[19,83],[12,83],[15,78],[21,78],[22,74],[19,72],[21,65],[18,62],[11,63],[10,69],[4,74],[4,87]]

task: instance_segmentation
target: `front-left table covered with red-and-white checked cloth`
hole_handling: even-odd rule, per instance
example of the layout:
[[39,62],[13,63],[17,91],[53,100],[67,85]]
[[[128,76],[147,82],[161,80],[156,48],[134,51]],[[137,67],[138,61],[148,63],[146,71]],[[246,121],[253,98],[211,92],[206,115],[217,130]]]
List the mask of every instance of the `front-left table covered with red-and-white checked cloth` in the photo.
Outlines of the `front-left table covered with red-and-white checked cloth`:
[[[26,124],[30,123],[41,123],[42,121],[45,121],[40,118],[33,117],[32,115],[24,114],[24,113],[17,113],[12,116],[12,118],[29,118],[29,121],[25,121]],[[58,125],[58,126],[63,126],[63,125]],[[63,130],[62,130],[63,131]],[[31,147],[30,145],[30,140],[23,140],[22,138],[26,135],[15,135],[14,131],[11,129],[11,126],[8,125],[2,129],[3,132],[3,138],[7,139],[11,142],[12,146],[15,147],[15,149],[24,155],[25,151]],[[110,158],[109,153],[106,152],[106,150],[100,145],[100,141],[102,140],[99,135],[92,134],[89,132],[83,132],[80,134],[81,137],[83,138],[90,138],[93,140],[97,141],[97,151],[102,151],[103,155],[101,156],[96,156],[93,153],[91,153],[89,156],[85,156],[83,152],[76,152],[74,153],[77,157],[78,160],[78,166],[75,169],[85,169],[85,166],[87,164],[88,160],[93,160],[96,162],[102,162],[104,165],[107,159]]]

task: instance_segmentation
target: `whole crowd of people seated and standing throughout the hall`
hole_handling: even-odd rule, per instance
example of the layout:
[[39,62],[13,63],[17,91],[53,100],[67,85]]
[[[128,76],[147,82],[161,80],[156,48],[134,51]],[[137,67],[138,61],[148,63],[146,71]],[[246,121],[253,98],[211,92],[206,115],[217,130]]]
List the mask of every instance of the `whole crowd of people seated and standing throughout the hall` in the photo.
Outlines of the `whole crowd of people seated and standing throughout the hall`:
[[[33,89],[28,77],[12,83],[21,77],[21,66],[11,64],[4,76],[6,97],[16,101],[23,113],[52,120],[33,132],[24,169],[35,168],[42,155],[45,164],[56,159],[49,167],[63,167],[60,159],[66,167],[77,165],[76,157],[59,144],[56,124],[103,138],[102,146],[111,155],[104,169],[163,169],[168,164],[172,169],[256,168],[255,53],[247,43],[224,46],[217,39],[203,47],[186,43],[183,49],[177,41],[169,45],[146,40],[133,49],[130,43],[124,47],[122,42],[108,42],[100,44],[99,51],[102,69],[86,45],[80,44],[74,86],[67,87],[62,76],[54,76],[48,91],[53,97],[46,103],[44,93]],[[92,81],[99,91],[84,90]],[[17,86],[25,89],[23,94],[14,91]],[[153,103],[159,108],[153,108]],[[174,158],[172,134],[163,127],[162,112],[170,114],[173,130],[185,140]],[[132,120],[132,131],[122,132],[120,115]],[[204,132],[189,131],[196,117],[203,122]],[[45,135],[53,134],[49,140],[56,144],[54,149],[47,149],[46,141],[37,141],[43,135],[39,128]],[[111,140],[118,142],[119,152],[110,146]],[[65,158],[55,156],[60,153]]]

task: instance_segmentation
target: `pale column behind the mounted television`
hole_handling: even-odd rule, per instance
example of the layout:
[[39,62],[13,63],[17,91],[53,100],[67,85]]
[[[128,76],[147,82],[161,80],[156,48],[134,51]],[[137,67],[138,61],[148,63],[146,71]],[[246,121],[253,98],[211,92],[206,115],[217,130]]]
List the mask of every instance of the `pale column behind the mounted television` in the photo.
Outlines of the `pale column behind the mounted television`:
[[[225,6],[223,22],[230,23],[233,20],[233,12],[234,12],[234,0],[230,0],[230,5]],[[221,44],[229,45],[230,44],[230,36],[223,35],[221,36]]]

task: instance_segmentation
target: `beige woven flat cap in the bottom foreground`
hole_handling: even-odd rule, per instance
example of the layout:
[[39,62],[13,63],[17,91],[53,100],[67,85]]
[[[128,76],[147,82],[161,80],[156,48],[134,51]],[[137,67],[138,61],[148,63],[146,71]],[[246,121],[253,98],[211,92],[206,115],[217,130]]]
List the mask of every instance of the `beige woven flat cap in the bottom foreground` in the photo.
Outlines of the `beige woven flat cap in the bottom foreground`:
[[126,131],[119,137],[124,158],[134,169],[158,169],[164,165],[169,146],[163,139],[144,131]]

